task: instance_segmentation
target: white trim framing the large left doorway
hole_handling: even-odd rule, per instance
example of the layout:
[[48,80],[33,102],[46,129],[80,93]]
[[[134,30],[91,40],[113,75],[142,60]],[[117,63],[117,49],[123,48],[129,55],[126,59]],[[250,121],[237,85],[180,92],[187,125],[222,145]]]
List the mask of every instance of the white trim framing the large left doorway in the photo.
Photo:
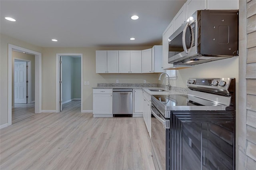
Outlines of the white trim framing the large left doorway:
[[[19,47],[16,45],[8,44],[8,126],[12,125],[12,106],[14,103],[14,91],[13,91],[13,72],[14,72],[14,64],[13,64],[13,53],[15,51],[21,53],[27,53],[30,55],[34,55],[34,103],[33,110],[34,113],[41,113],[42,111],[42,54],[36,51],[32,51],[30,49],[26,49],[23,47]],[[31,94],[31,93],[30,93]],[[30,96],[30,94],[28,96]],[[32,100],[30,97],[29,101]]]

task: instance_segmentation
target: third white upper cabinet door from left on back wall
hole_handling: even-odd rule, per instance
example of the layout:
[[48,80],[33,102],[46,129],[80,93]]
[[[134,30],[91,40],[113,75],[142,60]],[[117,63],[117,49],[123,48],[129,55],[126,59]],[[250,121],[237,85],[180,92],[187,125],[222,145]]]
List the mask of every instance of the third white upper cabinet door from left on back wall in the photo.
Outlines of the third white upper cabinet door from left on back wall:
[[130,73],[130,51],[119,51],[119,73]]

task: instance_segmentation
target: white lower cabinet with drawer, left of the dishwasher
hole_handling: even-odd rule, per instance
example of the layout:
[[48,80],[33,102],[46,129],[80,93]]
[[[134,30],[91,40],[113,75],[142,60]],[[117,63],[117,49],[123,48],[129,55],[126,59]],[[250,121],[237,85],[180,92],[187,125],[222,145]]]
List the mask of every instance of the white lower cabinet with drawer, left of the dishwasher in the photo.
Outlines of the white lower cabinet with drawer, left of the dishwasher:
[[112,89],[93,89],[93,117],[113,117]]

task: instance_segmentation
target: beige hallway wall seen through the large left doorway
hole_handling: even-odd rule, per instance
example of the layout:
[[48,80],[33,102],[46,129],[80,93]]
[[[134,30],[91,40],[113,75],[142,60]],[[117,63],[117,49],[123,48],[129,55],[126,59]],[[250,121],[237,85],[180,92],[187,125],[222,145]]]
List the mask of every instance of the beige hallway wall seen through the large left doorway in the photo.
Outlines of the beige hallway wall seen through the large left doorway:
[[35,100],[35,55],[12,51],[12,107],[14,106],[14,59],[31,61],[31,101]]

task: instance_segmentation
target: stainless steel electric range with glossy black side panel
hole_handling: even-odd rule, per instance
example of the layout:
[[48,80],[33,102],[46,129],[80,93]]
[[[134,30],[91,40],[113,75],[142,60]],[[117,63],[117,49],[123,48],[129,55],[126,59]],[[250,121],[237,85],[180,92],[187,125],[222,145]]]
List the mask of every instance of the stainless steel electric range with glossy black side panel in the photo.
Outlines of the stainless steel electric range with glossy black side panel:
[[188,95],[152,95],[156,169],[235,169],[234,78],[190,78]]

